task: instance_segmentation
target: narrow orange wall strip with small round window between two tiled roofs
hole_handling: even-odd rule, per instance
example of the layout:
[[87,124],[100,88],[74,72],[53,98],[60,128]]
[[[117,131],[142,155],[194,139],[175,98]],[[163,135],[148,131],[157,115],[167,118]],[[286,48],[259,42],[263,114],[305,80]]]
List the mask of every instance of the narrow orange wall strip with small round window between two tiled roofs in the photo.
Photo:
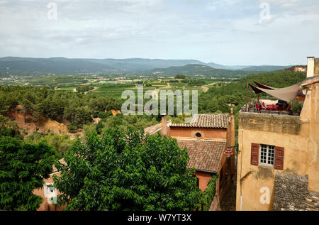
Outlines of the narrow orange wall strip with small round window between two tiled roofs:
[[226,128],[184,128],[184,127],[170,127],[170,136],[172,138],[196,138],[196,133],[201,133],[201,138],[216,138],[226,139],[227,129]]

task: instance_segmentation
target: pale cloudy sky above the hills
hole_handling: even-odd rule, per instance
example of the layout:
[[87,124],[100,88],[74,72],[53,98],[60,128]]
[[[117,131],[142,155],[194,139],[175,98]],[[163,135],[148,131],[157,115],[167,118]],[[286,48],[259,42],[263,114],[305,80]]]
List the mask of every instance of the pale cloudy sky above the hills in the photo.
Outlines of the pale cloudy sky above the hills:
[[0,0],[0,57],[306,65],[318,21],[318,0]]

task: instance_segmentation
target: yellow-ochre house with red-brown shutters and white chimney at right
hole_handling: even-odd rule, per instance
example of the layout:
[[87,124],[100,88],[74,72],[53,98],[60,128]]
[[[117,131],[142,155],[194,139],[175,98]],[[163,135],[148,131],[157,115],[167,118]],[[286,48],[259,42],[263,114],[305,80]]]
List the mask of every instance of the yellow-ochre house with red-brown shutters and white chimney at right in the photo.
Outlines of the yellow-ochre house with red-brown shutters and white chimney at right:
[[[300,116],[240,111],[236,210],[319,210],[318,58],[308,57],[298,87],[306,93]],[[294,87],[268,88],[287,97]]]

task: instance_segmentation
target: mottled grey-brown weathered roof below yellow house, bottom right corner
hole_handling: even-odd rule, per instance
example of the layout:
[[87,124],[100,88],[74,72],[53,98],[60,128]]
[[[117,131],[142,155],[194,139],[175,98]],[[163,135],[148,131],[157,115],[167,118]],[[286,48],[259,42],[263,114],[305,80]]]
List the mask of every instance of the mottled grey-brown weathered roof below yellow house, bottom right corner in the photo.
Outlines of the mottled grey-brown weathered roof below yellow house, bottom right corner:
[[308,175],[276,173],[273,210],[319,211],[319,193],[308,191]]

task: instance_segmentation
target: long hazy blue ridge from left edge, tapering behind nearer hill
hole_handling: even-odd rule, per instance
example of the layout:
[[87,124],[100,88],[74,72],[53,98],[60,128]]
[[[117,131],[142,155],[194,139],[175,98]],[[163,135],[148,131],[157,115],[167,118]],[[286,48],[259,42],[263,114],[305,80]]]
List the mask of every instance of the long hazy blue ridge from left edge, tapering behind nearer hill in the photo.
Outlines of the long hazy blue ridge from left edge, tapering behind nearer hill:
[[9,71],[13,75],[22,74],[65,74],[65,73],[109,73],[132,74],[155,68],[183,66],[191,63],[205,64],[198,60],[150,60],[150,59],[68,59],[65,57],[30,58],[1,57],[0,73]]

